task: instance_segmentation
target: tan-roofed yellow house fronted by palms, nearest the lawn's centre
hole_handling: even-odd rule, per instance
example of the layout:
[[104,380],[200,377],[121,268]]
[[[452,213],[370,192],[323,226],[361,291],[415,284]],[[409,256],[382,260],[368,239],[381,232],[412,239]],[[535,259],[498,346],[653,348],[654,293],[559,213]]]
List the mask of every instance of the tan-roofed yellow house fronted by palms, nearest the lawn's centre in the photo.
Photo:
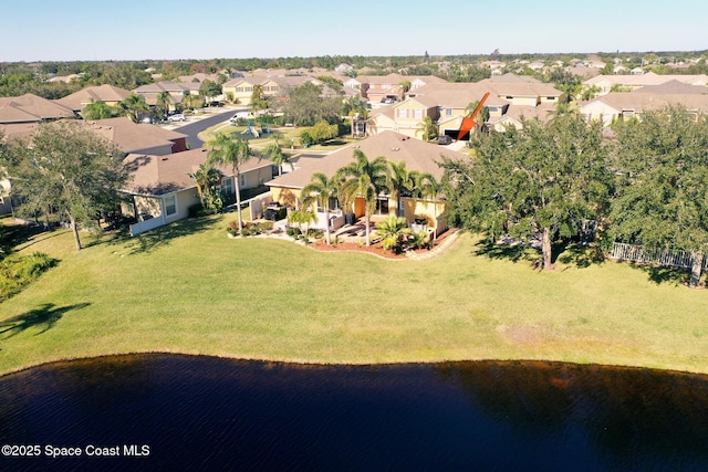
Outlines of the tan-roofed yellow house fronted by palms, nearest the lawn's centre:
[[[383,156],[393,162],[404,161],[408,171],[429,172],[437,181],[442,178],[442,169],[438,162],[444,157],[459,159],[465,156],[435,144],[413,139],[400,133],[383,132],[320,158],[301,158],[292,172],[284,174],[266,182],[266,185],[270,187],[274,201],[290,208],[298,208],[301,204],[301,191],[311,181],[312,175],[322,172],[331,178],[339,169],[352,161],[355,150],[361,150],[369,159]],[[416,220],[425,219],[427,227],[437,233],[447,228],[442,200],[404,196],[400,202],[402,208],[396,209],[395,199],[392,199],[389,195],[381,195],[374,217],[398,213],[406,218],[409,224],[414,224]],[[339,202],[334,201],[333,203],[330,222],[332,230],[336,230],[345,223],[345,212],[348,213],[353,210],[354,218],[364,216],[364,200],[361,198],[357,198],[354,208],[347,211],[339,208]],[[320,210],[316,212],[317,222],[313,228],[326,228],[325,213]]]

